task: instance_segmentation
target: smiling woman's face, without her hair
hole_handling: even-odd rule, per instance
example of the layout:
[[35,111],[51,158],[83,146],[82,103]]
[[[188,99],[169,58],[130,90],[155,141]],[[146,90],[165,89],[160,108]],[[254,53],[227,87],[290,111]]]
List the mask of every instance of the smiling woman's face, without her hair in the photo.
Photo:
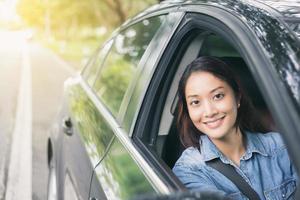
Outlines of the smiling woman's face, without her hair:
[[238,102],[234,91],[209,72],[194,72],[188,78],[185,98],[195,127],[211,139],[235,133]]

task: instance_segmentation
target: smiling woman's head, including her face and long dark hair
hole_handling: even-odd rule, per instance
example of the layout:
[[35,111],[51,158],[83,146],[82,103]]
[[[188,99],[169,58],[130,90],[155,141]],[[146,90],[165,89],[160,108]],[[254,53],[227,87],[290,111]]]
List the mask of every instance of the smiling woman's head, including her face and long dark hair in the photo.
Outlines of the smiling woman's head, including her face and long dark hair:
[[183,74],[178,91],[178,124],[182,124],[181,139],[186,146],[199,145],[199,131],[216,139],[228,132],[241,134],[238,127],[266,132],[237,77],[221,60],[195,60]]

